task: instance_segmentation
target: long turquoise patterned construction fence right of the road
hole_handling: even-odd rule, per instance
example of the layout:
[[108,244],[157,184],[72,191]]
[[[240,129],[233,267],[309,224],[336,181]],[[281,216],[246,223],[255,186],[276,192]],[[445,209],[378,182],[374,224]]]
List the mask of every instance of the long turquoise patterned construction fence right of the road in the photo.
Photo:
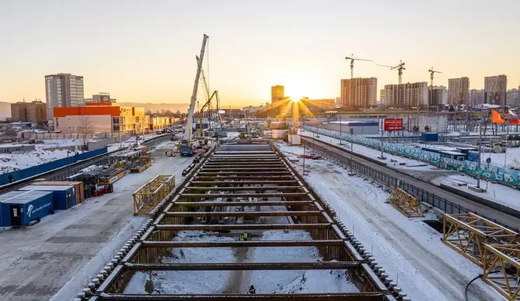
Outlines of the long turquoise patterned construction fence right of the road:
[[[381,150],[381,141],[379,139],[365,138],[363,136],[351,135],[347,133],[339,133],[330,129],[323,129],[320,127],[310,127],[304,125],[304,129],[308,132],[313,132],[320,135],[330,136],[336,139],[342,139],[345,141],[367,146]],[[464,172],[473,177],[481,177],[483,179],[489,179],[491,181],[498,181],[507,186],[520,187],[520,171],[514,169],[506,169],[498,167],[496,165],[482,165],[479,170],[478,162],[464,160],[453,160],[450,158],[441,158],[438,153],[432,153],[429,151],[422,151],[420,148],[413,146],[405,146],[398,143],[383,143],[383,150],[386,153],[392,155],[398,155],[405,158],[412,158],[420,160],[422,162],[441,167],[443,169],[455,170],[457,172]]]

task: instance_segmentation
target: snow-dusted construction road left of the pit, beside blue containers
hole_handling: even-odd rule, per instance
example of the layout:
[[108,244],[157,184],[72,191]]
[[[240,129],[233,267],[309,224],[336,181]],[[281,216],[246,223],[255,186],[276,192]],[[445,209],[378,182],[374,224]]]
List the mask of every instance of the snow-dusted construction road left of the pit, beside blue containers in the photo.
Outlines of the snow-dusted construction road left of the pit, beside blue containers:
[[1,230],[0,299],[72,300],[141,226],[144,217],[132,214],[132,193],[157,174],[181,180],[193,158],[165,157],[161,146],[168,143],[152,152],[150,168],[117,181],[114,193],[89,198],[34,226]]

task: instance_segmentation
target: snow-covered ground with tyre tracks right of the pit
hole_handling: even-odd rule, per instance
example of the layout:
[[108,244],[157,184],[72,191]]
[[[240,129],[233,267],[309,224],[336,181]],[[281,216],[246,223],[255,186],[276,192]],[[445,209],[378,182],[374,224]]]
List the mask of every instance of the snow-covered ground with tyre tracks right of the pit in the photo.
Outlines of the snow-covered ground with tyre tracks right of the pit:
[[[286,155],[303,153],[298,146],[278,146]],[[412,300],[464,300],[464,287],[482,269],[444,245],[441,233],[386,204],[389,193],[370,181],[349,177],[346,169],[327,160],[305,163],[306,181]],[[292,164],[301,172],[301,159]],[[478,280],[469,288],[469,300],[504,299]]]

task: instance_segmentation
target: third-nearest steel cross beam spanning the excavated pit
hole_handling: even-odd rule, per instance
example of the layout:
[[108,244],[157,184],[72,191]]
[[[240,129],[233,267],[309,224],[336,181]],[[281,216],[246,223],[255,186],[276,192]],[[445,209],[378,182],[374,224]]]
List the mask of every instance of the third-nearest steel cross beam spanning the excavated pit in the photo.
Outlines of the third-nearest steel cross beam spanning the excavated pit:
[[308,241],[143,241],[143,248],[326,247],[344,245],[341,239]]

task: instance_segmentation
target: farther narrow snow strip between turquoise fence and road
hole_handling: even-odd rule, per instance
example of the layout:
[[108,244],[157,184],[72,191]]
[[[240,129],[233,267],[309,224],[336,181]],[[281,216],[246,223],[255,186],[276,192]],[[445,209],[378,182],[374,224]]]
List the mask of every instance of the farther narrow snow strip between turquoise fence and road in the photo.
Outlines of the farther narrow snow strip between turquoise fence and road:
[[[339,145],[339,139],[332,138],[330,136],[325,136],[323,134],[320,134],[319,137],[316,137],[316,133],[309,132],[309,131],[301,131],[301,136],[308,136],[316,138],[320,141],[328,142]],[[344,144],[343,146],[340,146],[342,148],[345,148],[346,150],[351,150],[351,143],[342,141]],[[434,165],[429,165],[424,162],[421,162],[419,160],[412,160],[408,158],[403,158],[398,155],[391,155],[389,153],[384,153],[384,157],[386,157],[386,160],[381,160],[378,157],[381,156],[381,151],[375,150],[373,148],[369,148],[367,146],[362,146],[360,144],[353,143],[353,152],[359,153],[361,155],[365,155],[369,158],[372,158],[374,160],[378,160],[379,162],[386,163],[389,167],[394,167],[398,169],[412,169],[412,170],[438,170],[437,167]],[[396,162],[391,162],[391,160],[395,160]],[[399,163],[405,163],[405,165],[399,165]]]

